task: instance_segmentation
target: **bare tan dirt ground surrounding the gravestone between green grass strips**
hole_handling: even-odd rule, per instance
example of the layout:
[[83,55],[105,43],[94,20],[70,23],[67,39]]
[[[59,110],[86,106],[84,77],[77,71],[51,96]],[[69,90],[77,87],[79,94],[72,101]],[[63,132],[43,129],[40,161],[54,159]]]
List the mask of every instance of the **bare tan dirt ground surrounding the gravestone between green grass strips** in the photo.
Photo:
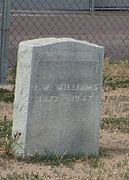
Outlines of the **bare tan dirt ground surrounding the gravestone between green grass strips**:
[[[102,117],[129,116],[129,88],[103,90]],[[0,119],[12,120],[13,104],[0,103]],[[129,134],[117,129],[102,129],[100,132],[99,158],[77,160],[70,166],[45,165],[18,161],[0,155],[0,179],[43,180],[128,180],[129,179]],[[28,174],[27,174],[28,173]],[[8,178],[8,179],[9,179]],[[18,178],[17,178],[18,179]]]

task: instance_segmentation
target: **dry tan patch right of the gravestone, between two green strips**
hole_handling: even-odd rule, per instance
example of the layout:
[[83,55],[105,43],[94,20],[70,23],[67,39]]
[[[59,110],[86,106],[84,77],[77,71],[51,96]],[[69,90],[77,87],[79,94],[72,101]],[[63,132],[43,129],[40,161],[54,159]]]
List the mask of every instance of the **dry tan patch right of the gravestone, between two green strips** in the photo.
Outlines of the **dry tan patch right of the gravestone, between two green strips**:
[[129,117],[129,88],[103,90],[102,117]]

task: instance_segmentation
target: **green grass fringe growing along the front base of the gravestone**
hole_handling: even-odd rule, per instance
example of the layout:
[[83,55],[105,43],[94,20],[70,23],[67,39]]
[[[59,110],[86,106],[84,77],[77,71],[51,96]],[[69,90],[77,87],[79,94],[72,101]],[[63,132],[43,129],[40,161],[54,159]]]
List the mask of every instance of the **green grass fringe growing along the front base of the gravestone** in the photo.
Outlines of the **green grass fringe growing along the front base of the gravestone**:
[[64,154],[64,155],[56,155],[52,153],[48,153],[47,155],[35,154],[34,156],[28,156],[26,158],[17,158],[19,161],[25,161],[26,163],[37,163],[41,162],[44,165],[50,166],[59,166],[61,164],[67,167],[73,167],[76,162],[88,162],[90,166],[93,168],[97,168],[100,159],[102,157],[107,157],[109,154],[100,149],[98,155],[85,155],[85,154]]

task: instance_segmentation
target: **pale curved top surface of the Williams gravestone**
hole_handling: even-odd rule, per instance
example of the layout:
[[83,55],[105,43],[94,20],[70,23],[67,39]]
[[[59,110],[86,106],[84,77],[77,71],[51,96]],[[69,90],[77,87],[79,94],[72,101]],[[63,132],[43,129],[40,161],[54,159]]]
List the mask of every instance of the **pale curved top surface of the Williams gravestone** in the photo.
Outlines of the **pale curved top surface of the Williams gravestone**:
[[89,43],[87,41],[80,41],[80,40],[76,40],[76,39],[72,39],[72,38],[39,38],[39,39],[22,41],[20,43],[20,45],[28,45],[28,46],[38,47],[38,46],[46,46],[46,45],[52,45],[52,44],[56,44],[56,43],[65,43],[65,42],[79,43],[79,44],[84,44],[84,45],[87,45],[90,47],[104,49],[104,47],[99,46],[97,44]]

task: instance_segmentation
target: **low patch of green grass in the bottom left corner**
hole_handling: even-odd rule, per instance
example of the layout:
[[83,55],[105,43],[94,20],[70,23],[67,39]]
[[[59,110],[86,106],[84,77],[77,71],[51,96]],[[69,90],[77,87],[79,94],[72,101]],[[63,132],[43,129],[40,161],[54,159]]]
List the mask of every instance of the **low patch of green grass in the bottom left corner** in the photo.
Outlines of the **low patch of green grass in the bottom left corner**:
[[[35,173],[22,173],[18,174],[16,172],[12,174],[7,174],[6,177],[0,177],[0,180],[43,180],[38,174]],[[44,179],[45,180],[45,179]]]

